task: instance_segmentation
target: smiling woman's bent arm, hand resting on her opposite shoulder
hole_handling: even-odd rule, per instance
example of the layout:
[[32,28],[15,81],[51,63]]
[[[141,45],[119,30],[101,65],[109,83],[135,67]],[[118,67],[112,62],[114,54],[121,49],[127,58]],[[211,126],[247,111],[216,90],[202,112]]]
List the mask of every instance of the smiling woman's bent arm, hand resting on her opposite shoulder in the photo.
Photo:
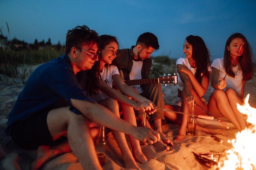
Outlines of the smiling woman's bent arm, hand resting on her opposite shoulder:
[[179,72],[179,74],[181,72],[184,72],[185,74],[187,74],[198,96],[200,97],[204,96],[205,92],[208,89],[209,78],[203,76],[202,82],[200,84],[198,80],[195,78],[195,76],[193,75],[193,73],[185,65],[182,65],[182,64],[177,64],[177,71]]

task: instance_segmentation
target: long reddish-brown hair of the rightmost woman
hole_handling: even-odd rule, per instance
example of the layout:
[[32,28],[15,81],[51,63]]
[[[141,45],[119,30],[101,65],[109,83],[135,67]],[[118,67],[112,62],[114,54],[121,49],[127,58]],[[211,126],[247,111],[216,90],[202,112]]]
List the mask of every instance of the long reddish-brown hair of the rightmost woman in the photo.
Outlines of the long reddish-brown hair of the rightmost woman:
[[224,51],[224,68],[229,76],[235,77],[235,73],[232,71],[232,69],[229,69],[232,63],[230,60],[230,52],[229,50],[227,50],[227,46],[229,46],[231,41],[236,38],[242,38],[243,41],[245,42],[243,46],[243,54],[238,58],[238,62],[240,63],[241,70],[243,72],[243,80],[247,81],[252,79],[252,76],[254,74],[254,62],[252,58],[252,48],[243,34],[234,33],[227,39]]

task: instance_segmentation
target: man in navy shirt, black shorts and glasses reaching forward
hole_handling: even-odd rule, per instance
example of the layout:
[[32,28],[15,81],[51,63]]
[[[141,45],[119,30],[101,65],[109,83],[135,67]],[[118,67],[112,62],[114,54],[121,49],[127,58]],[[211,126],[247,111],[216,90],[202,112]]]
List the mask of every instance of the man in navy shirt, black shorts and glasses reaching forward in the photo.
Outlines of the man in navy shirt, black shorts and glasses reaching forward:
[[6,133],[20,148],[38,148],[33,170],[71,151],[84,169],[102,169],[94,147],[97,123],[146,144],[160,139],[156,131],[132,126],[88,98],[77,82],[76,74],[90,70],[98,60],[98,43],[98,34],[87,26],[69,30],[66,54],[38,66],[18,96],[9,114]]

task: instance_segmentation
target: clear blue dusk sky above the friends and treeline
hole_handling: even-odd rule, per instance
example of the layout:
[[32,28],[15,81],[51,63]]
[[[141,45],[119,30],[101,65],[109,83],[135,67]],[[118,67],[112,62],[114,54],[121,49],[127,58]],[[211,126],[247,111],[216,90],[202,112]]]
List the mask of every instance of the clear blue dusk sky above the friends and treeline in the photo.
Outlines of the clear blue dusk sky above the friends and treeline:
[[239,32],[255,56],[255,8],[256,0],[0,0],[0,28],[9,38],[7,22],[11,39],[65,44],[67,30],[87,25],[99,35],[115,35],[120,48],[151,32],[160,45],[152,56],[171,58],[184,57],[186,36],[198,35],[211,59],[223,57],[227,38]]

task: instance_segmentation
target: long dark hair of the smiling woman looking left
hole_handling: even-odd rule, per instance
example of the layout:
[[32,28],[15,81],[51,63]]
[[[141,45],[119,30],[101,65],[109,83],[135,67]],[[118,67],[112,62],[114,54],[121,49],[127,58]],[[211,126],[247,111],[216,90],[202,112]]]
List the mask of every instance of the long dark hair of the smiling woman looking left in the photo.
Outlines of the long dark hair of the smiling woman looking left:
[[195,78],[199,83],[202,81],[202,76],[210,78],[208,68],[210,67],[210,52],[207,49],[204,40],[195,35],[186,37],[186,41],[192,45],[192,57],[196,63]]

